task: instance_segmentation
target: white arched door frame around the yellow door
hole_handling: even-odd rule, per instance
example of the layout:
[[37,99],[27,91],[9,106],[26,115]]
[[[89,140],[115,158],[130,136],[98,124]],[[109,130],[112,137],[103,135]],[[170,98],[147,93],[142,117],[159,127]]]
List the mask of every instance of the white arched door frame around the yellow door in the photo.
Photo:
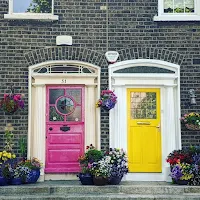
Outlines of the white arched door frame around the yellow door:
[[[174,73],[117,73],[130,67],[157,67]],[[117,104],[110,111],[110,147],[127,151],[127,88],[160,88],[162,173],[128,173],[126,180],[169,181],[167,155],[181,148],[180,129],[180,66],[160,60],[137,59],[109,65],[109,88],[117,95]]]

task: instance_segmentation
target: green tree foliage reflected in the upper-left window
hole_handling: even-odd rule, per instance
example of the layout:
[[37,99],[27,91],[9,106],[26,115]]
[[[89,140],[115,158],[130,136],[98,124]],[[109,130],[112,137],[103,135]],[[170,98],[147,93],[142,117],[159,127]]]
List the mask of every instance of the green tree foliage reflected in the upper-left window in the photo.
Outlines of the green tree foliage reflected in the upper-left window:
[[51,13],[52,0],[32,0],[27,12],[31,13]]

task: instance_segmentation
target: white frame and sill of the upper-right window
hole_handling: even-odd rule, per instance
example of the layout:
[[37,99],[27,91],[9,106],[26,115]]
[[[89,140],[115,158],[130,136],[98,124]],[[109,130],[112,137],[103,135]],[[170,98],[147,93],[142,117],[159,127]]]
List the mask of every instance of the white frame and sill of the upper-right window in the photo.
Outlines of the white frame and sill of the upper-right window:
[[164,13],[164,0],[158,0],[158,16],[154,21],[200,21],[200,0],[194,0],[194,13]]

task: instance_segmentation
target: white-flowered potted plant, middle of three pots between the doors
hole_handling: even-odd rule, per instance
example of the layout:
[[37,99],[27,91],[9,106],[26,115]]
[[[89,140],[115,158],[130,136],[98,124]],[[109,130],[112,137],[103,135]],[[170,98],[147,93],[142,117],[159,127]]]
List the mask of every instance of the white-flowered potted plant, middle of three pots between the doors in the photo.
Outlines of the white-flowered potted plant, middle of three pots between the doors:
[[91,173],[93,175],[94,185],[106,185],[111,176],[111,157],[104,156],[98,162],[93,162]]

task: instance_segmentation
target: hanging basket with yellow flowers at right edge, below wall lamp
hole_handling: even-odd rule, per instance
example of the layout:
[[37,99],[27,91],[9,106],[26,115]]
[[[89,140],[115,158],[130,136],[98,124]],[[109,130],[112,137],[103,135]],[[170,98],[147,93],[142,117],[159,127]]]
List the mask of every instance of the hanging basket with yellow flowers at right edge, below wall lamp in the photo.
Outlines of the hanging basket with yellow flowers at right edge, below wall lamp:
[[184,114],[183,117],[181,117],[181,122],[188,130],[200,130],[199,113],[192,112]]

